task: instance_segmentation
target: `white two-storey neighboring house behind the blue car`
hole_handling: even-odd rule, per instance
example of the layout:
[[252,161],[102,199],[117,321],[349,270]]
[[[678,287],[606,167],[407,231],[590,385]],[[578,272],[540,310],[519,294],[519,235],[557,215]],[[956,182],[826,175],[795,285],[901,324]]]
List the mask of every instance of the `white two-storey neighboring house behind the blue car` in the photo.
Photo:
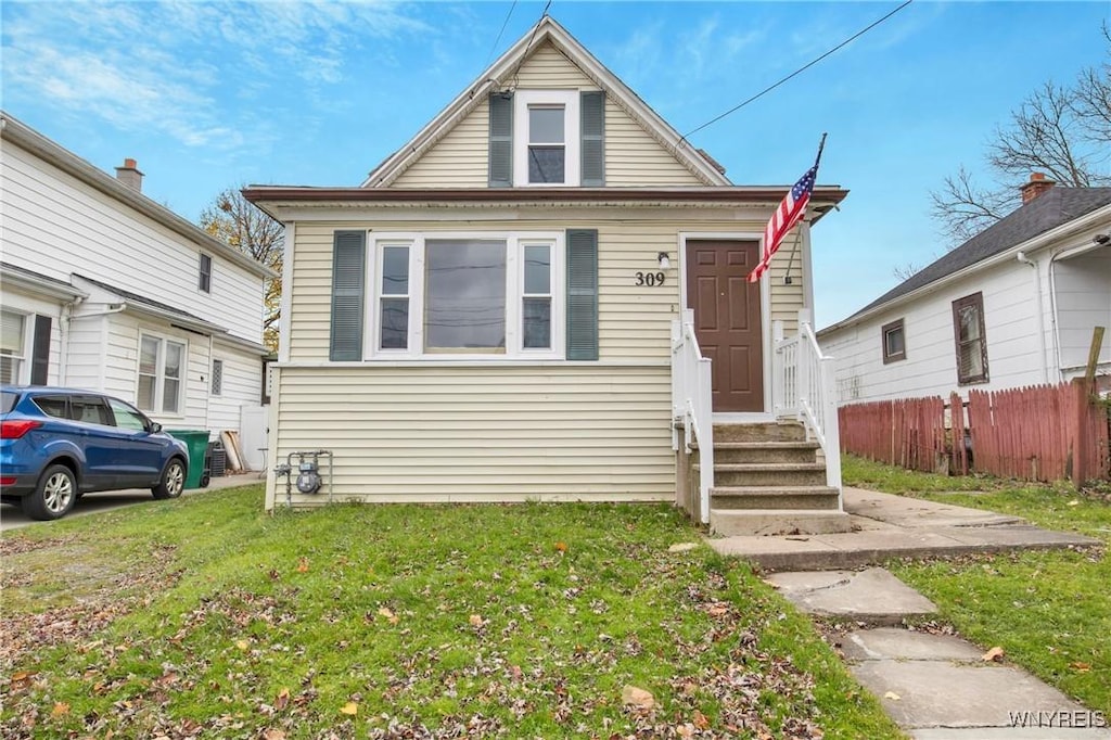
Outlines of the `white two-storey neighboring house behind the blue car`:
[[0,116],[0,381],[110,393],[168,429],[262,431],[241,418],[263,398],[273,271],[143,196],[134,160],[112,178]]

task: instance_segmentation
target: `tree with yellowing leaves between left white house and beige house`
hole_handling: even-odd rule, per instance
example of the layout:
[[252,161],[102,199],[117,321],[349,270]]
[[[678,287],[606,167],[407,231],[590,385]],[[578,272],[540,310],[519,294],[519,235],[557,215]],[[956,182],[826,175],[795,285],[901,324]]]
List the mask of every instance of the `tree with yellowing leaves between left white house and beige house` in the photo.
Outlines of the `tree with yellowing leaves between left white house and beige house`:
[[[282,267],[282,226],[243,198],[239,188],[221,191],[201,212],[201,228],[220,241],[234,247],[279,274]],[[266,316],[262,339],[268,349],[278,351],[278,318],[281,306],[281,278],[267,281]]]

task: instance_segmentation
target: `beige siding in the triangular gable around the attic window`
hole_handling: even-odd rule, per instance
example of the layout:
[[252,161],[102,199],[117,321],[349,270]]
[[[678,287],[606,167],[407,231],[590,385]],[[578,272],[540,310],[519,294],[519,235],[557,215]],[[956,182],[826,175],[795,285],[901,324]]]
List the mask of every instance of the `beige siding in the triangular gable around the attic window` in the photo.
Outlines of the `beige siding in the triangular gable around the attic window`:
[[[521,66],[517,89],[598,90],[581,69],[552,44],[541,46]],[[486,188],[490,104],[482,100],[440,141],[409,167],[394,188]],[[694,174],[662,147],[612,97],[605,103],[605,184],[700,186]]]

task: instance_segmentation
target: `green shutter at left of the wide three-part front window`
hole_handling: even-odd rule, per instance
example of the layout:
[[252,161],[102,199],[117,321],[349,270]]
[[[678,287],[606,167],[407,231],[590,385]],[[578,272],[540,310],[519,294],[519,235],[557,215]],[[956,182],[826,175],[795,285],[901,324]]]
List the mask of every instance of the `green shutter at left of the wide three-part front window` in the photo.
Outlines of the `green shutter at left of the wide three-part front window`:
[[363,283],[367,278],[367,232],[337,231],[332,243],[331,360],[362,359]]

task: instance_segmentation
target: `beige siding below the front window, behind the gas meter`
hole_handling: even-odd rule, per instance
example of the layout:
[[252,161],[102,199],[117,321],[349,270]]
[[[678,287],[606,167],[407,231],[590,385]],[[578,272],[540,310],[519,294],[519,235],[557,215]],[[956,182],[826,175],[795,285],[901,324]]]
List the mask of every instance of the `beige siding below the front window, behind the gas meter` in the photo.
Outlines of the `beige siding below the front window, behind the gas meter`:
[[[272,444],[281,460],[331,450],[337,500],[670,501],[669,377],[667,367],[282,368]],[[269,496],[286,504],[272,473]],[[327,488],[293,494],[294,506],[327,500]]]

